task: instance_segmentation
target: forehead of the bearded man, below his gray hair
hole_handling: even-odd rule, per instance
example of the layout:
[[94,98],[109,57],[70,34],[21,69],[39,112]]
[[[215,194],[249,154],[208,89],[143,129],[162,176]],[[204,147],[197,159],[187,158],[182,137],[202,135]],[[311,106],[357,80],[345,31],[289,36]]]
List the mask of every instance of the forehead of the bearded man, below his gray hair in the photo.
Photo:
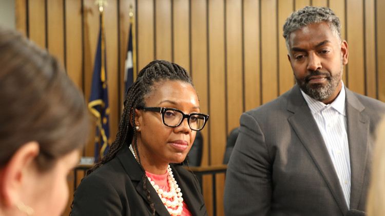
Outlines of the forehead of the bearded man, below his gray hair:
[[290,34],[288,45],[290,48],[315,45],[323,41],[338,44],[338,37],[333,33],[330,26],[325,23],[316,23],[303,26]]

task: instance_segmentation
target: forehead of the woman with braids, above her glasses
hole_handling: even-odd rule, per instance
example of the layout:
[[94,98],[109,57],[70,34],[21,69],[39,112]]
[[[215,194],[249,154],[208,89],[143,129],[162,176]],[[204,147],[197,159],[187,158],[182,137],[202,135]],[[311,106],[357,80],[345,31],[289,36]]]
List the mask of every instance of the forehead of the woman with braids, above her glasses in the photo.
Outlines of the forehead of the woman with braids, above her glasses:
[[145,99],[146,106],[157,106],[164,101],[175,104],[191,104],[199,106],[198,96],[190,83],[174,80],[156,82],[152,92]]

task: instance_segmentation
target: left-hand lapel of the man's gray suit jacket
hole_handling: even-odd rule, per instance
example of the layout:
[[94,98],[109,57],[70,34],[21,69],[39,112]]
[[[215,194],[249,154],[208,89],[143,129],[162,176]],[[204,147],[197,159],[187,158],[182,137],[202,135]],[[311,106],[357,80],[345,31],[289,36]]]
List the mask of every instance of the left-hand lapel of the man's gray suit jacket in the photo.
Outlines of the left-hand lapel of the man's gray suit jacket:
[[298,138],[314,160],[318,170],[329,186],[335,201],[342,212],[346,212],[348,207],[345,203],[342,189],[339,184],[337,173],[333,162],[329,156],[328,149],[323,141],[323,137],[318,129],[317,123],[307,106],[306,101],[300,92],[298,85],[295,85],[288,96],[287,110],[294,113],[288,118]]

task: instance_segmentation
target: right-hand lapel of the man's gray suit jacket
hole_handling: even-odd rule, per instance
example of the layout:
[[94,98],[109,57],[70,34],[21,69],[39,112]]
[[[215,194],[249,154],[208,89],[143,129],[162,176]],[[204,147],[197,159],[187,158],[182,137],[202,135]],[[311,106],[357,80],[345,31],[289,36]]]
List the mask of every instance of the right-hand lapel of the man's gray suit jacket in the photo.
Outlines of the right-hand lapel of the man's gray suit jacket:
[[350,208],[357,209],[368,164],[369,116],[363,115],[362,103],[345,88],[346,114],[351,170]]

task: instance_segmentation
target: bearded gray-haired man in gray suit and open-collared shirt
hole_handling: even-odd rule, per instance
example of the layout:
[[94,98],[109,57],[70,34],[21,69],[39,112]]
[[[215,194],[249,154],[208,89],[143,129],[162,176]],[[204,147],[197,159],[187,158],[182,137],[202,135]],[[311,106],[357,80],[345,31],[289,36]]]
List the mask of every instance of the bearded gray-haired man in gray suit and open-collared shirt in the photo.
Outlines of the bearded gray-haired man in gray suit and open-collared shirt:
[[283,26],[297,84],[240,118],[225,215],[344,215],[363,211],[373,133],[385,104],[346,88],[348,44],[329,8],[293,12]]

